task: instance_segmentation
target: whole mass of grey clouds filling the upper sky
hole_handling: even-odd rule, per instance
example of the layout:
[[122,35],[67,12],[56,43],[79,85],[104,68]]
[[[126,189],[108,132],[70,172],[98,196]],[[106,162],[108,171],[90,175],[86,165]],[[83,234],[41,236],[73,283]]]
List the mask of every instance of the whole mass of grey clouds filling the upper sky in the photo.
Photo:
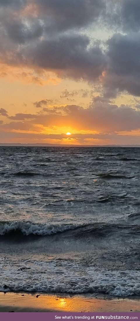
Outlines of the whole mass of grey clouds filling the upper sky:
[[[122,91],[140,96],[139,0],[0,0],[0,6],[2,77],[11,75],[10,66],[21,70],[15,78],[28,83],[46,84],[53,72],[61,79],[102,84],[104,97]],[[96,22],[103,30],[106,8],[112,30],[109,40],[97,41],[91,29]],[[115,28],[120,33],[111,36]],[[74,101],[74,95],[90,93],[65,90],[61,98]]]

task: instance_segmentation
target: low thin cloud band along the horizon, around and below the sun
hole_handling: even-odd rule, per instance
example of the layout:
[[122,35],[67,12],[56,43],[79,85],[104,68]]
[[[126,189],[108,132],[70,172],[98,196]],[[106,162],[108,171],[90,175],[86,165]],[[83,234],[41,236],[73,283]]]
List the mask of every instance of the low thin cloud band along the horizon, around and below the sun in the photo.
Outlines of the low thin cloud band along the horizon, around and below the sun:
[[[140,134],[140,133],[139,133]],[[3,132],[0,130],[1,143],[54,143],[67,144],[69,137],[66,134],[36,134]],[[70,144],[104,145],[104,144],[139,144],[139,135],[118,134],[74,134]]]

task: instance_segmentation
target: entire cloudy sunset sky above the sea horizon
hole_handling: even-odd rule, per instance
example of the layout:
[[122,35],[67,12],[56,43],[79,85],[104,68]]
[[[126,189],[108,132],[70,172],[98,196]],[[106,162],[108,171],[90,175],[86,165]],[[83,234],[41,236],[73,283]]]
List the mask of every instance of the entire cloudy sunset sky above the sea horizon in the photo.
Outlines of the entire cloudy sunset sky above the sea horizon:
[[0,143],[140,144],[139,17],[139,0],[0,0]]

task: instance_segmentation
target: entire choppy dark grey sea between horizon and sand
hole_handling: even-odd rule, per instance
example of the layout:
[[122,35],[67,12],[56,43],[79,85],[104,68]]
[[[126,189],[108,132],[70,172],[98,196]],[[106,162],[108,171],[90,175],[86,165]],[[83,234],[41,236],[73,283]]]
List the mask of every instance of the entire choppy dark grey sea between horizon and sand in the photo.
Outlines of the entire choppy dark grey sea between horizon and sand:
[[0,147],[0,291],[140,295],[140,148]]

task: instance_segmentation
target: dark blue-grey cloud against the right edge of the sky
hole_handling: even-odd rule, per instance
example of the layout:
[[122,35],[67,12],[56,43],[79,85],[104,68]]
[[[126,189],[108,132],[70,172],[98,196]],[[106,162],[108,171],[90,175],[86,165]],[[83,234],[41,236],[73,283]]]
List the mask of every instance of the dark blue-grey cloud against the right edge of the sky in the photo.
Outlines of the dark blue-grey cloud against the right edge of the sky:
[[113,35],[107,41],[108,67],[102,78],[106,97],[127,91],[140,96],[140,33]]

